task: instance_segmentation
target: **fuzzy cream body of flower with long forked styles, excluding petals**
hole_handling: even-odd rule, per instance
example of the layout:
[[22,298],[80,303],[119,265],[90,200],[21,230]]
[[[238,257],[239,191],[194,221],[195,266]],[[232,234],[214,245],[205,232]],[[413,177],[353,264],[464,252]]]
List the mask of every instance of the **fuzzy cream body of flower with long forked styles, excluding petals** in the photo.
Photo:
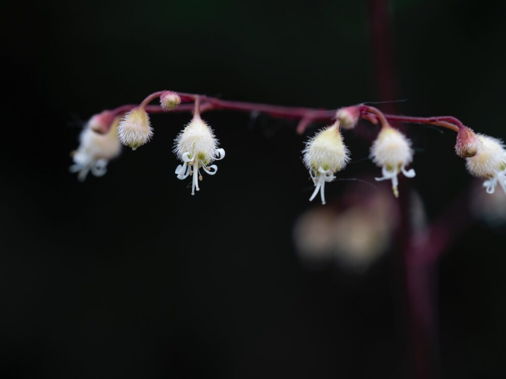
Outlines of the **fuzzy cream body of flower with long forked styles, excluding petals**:
[[319,168],[332,172],[342,170],[350,160],[350,151],[343,142],[338,123],[319,130],[307,141],[303,154],[304,164],[315,172]]

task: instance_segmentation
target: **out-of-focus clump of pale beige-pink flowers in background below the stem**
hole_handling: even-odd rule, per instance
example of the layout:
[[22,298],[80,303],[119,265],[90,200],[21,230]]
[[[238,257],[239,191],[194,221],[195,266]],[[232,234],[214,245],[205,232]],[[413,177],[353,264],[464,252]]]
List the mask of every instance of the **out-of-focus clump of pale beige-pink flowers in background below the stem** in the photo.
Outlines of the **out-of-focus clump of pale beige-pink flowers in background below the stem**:
[[357,193],[360,195],[344,210],[313,208],[299,217],[293,236],[304,262],[336,261],[361,272],[388,249],[398,223],[392,196],[381,189],[364,192],[362,188]]

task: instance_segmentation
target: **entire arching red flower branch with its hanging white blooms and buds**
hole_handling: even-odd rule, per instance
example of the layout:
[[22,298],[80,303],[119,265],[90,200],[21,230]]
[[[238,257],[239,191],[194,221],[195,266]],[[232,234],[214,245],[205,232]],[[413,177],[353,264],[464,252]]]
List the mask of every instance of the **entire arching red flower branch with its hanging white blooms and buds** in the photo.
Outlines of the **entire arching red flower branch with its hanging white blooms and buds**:
[[[74,163],[70,171],[78,172],[78,179],[81,181],[89,172],[95,176],[104,175],[108,162],[120,154],[121,144],[133,150],[146,144],[153,136],[147,111],[153,111],[153,106],[148,106],[148,104],[156,98],[159,98],[160,105],[154,108],[155,111],[173,111],[182,101],[194,102],[193,108],[188,105],[181,106],[181,110],[193,109],[194,116],[176,136],[173,149],[174,154],[181,161],[175,174],[180,180],[188,176],[192,177],[192,195],[200,189],[199,181],[203,179],[200,170],[209,175],[216,174],[218,166],[213,163],[225,157],[225,150],[219,148],[213,129],[200,117],[200,99],[206,102],[206,110],[215,107],[236,110],[256,108],[251,103],[231,105],[233,102],[221,102],[199,95],[182,94],[180,96],[168,90],[154,92],[133,109],[124,106],[93,116],[80,134],[79,148],[72,153]],[[276,108],[268,105],[261,105],[260,108],[263,112],[267,112],[266,108],[272,108],[272,114],[286,113],[289,117],[292,117],[294,112],[307,112],[307,109],[298,108],[288,112],[285,107]],[[128,110],[130,111],[127,112]],[[120,114],[124,114],[122,119],[119,118]],[[319,115],[314,118],[315,120],[329,117],[322,117],[321,112],[316,113],[316,111],[311,114]],[[325,114],[328,115],[328,112]],[[306,116],[302,116],[303,119]],[[306,147],[302,152],[303,161],[315,187],[309,198],[310,201],[320,194],[321,202],[325,204],[325,183],[333,181],[336,178],[335,174],[343,170],[350,160],[350,151],[344,143],[341,129],[354,128],[361,118],[375,125],[381,124],[381,129],[371,145],[369,158],[382,170],[382,176],[375,180],[390,180],[396,198],[399,197],[398,176],[401,173],[407,178],[415,176],[414,169],[408,168],[414,154],[411,141],[389,124],[389,121],[396,120],[433,124],[457,131],[455,152],[459,157],[466,159],[468,171],[484,179],[483,186],[487,193],[494,193],[497,185],[506,193],[506,148],[500,139],[477,134],[454,117],[420,118],[385,115],[376,108],[362,104],[339,109],[335,113],[335,122],[320,129],[306,142]]]

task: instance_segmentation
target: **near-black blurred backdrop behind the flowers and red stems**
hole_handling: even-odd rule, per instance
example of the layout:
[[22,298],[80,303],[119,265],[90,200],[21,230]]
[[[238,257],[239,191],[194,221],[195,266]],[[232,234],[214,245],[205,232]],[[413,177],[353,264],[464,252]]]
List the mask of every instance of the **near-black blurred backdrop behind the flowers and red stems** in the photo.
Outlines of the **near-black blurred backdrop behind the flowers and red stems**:
[[[293,122],[205,115],[227,157],[194,197],[171,152],[185,114],[153,116],[151,143],[105,177],[68,173],[86,119],[165,88],[324,108],[409,99],[398,112],[506,137],[504,2],[392,2],[395,99],[377,84],[368,4],[4,6],[0,376],[411,376],[399,249],[361,275],[309,269],[296,253],[294,221],[320,205]],[[454,134],[406,130],[433,220],[472,178]],[[345,139],[356,163],[342,176],[376,173],[369,142]],[[329,203],[344,191],[329,184]],[[505,377],[504,227],[470,225],[436,267],[435,373]]]

